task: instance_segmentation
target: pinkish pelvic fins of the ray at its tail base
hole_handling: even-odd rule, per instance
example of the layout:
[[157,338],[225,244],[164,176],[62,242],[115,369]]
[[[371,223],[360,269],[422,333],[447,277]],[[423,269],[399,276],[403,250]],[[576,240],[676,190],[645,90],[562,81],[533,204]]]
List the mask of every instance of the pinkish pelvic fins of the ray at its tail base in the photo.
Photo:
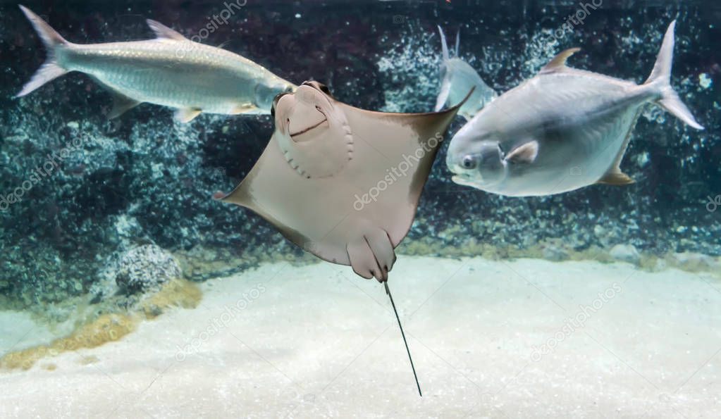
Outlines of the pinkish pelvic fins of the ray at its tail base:
[[396,253],[386,231],[380,228],[368,230],[348,243],[346,250],[356,274],[366,279],[375,277],[379,282],[388,281],[388,272],[396,261]]

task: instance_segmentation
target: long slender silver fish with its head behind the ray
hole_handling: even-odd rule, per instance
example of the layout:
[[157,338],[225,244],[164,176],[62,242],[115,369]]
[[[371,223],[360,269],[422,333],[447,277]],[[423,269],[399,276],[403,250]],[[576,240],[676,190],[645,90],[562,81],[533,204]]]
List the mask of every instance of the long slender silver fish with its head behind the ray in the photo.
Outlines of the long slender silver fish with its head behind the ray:
[[79,45],[66,41],[37,14],[20,6],[48,50],[48,59],[17,96],[25,96],[70,71],[94,78],[114,94],[108,117],[142,102],[178,109],[189,122],[200,112],[270,114],[278,93],[296,86],[258,64],[221,48],[191,42],[148,20],[157,38]]

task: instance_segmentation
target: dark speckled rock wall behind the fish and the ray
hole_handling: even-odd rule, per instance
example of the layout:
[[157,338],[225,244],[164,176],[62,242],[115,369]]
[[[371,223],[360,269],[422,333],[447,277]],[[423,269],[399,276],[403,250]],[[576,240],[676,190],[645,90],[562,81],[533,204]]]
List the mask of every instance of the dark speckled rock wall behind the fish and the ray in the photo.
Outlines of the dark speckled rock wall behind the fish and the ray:
[[[223,1],[27,1],[71,42],[141,40],[145,19],[192,36]],[[441,153],[410,233],[415,253],[474,256],[479,243],[532,248],[559,239],[569,251],[633,244],[650,253],[721,254],[721,7],[716,1],[603,1],[550,50],[534,41],[561,27],[578,1],[252,1],[205,43],[223,45],[297,84],[316,79],[338,99],[368,109],[426,111],[438,91],[440,45],[461,29],[461,56],[498,92],[531,77],[570,46],[571,65],[637,82],[653,68],[668,23],[678,18],[673,86],[707,128],[670,115],[641,117],[622,168],[637,183],[590,186],[553,197],[507,198],[452,184]],[[544,32],[546,31],[546,32]],[[247,261],[300,251],[250,212],[213,202],[260,156],[270,117],[201,115],[190,125],[143,104],[107,121],[110,96],[71,73],[23,99],[45,59],[14,3],[0,5],[0,193],[8,194],[72,138],[83,149],[0,212],[0,295],[32,305],[82,294],[107,258],[154,242],[205,260]],[[385,59],[385,66],[379,65]],[[712,79],[708,89],[699,75]],[[457,120],[451,134],[462,125]],[[647,156],[647,163],[638,163]],[[419,244],[420,243],[420,244]],[[452,249],[451,252],[449,249]],[[409,250],[410,251],[410,250]],[[210,255],[210,256],[208,256]],[[202,279],[200,276],[193,279]]]

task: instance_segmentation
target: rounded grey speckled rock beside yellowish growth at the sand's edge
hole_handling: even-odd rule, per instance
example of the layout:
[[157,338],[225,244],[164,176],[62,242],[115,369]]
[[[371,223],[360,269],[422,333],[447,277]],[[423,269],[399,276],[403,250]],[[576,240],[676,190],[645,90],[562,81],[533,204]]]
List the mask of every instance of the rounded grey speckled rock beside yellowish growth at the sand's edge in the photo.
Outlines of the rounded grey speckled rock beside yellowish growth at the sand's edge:
[[182,276],[175,258],[157,245],[141,245],[120,258],[115,282],[128,294],[156,289],[160,284]]

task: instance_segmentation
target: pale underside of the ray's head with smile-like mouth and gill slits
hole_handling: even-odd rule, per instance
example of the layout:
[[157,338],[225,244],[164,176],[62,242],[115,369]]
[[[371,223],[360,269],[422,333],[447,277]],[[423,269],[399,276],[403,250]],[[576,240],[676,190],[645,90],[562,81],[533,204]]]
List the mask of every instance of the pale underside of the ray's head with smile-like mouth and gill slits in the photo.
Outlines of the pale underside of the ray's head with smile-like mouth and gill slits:
[[278,94],[271,110],[288,164],[306,178],[333,176],[353,158],[353,135],[340,104],[317,81]]

